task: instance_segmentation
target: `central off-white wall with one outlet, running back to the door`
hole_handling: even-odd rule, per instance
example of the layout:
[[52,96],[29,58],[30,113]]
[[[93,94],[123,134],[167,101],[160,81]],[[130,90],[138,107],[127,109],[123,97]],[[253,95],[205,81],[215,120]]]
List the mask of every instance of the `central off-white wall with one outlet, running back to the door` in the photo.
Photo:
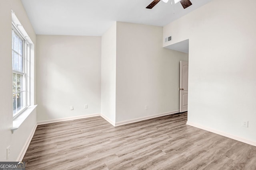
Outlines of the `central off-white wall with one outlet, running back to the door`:
[[116,122],[179,111],[179,63],[188,54],[163,48],[162,34],[162,27],[117,22]]

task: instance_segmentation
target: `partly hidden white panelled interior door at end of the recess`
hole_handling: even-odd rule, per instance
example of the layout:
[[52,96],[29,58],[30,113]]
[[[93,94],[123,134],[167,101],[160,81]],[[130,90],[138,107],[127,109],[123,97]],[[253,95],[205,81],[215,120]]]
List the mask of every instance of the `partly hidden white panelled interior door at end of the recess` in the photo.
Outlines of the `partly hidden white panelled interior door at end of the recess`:
[[188,62],[180,61],[180,112],[188,111]]

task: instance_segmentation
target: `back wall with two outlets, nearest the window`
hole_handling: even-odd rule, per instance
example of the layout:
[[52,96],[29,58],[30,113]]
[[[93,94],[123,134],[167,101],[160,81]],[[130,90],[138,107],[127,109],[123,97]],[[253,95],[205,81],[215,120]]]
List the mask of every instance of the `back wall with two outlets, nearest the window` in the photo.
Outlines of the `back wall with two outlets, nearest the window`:
[[37,35],[37,44],[37,120],[100,113],[101,37]]

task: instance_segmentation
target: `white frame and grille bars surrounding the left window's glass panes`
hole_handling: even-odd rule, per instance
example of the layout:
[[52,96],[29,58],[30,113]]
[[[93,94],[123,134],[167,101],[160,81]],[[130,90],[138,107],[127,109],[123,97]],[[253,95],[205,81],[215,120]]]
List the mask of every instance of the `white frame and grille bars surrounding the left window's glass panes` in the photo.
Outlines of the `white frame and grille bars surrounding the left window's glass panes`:
[[[28,43],[28,41],[26,40],[25,36],[22,35],[22,33],[18,30],[18,25],[16,26],[13,22],[12,22],[12,30],[14,31],[14,33],[16,33],[18,35],[18,37],[20,39],[22,39],[22,64],[23,64],[23,72],[19,72],[17,70],[12,70],[13,73],[16,73],[16,74],[22,74],[24,75],[24,78],[22,80],[22,86],[23,86],[23,89],[22,91],[20,92],[25,92],[25,96],[23,97],[23,100],[24,100],[24,107],[20,108],[18,111],[16,111],[16,113],[13,113],[12,112],[12,115],[13,115],[13,118],[15,117],[18,117],[22,112],[24,112],[28,106],[30,106],[30,78],[29,78],[29,75],[30,75],[30,43]],[[13,39],[13,36],[12,36],[12,39]],[[13,50],[13,47],[12,47],[12,51]],[[16,93],[13,93],[12,95],[14,94],[18,94],[20,92],[16,92]],[[16,101],[16,108],[17,108],[17,101]]]

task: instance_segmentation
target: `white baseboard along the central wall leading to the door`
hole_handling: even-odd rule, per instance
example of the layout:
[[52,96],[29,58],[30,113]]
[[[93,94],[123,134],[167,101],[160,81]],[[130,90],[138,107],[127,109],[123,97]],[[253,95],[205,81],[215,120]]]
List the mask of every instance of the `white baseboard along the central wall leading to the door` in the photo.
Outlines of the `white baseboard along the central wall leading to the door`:
[[175,113],[180,113],[180,110],[168,111],[168,112],[160,113],[160,114],[157,114],[157,115],[150,115],[150,116],[140,117],[140,118],[136,118],[136,119],[130,119],[130,120],[127,120],[127,121],[120,121],[120,122],[116,122],[115,126],[126,125],[126,124],[129,124],[129,123],[135,123],[135,122],[138,122],[138,121],[148,120],[148,119],[152,119],[152,118],[156,118],[156,117],[172,115],[172,114],[175,114]]

